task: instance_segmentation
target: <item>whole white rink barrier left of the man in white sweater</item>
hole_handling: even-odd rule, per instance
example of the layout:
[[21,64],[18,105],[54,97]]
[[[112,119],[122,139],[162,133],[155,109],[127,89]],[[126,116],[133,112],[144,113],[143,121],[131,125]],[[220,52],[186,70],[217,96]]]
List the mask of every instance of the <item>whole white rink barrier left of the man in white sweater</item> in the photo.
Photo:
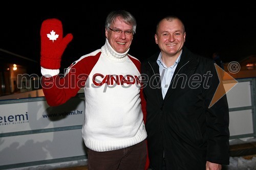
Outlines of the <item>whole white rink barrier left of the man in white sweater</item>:
[[0,105],[0,169],[87,155],[81,137],[83,98],[57,107],[49,107],[45,98],[36,99]]

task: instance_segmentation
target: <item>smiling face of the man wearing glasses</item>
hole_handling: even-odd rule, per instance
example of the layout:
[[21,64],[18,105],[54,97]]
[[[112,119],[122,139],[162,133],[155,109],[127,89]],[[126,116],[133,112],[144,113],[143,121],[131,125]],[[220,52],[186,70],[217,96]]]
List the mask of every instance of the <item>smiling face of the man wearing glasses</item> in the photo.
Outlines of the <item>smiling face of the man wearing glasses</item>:
[[[132,31],[133,27],[127,25],[124,21],[117,17],[110,25],[112,30]],[[131,46],[133,35],[127,36],[122,32],[120,35],[114,34],[110,29],[105,29],[105,36],[109,40],[110,45],[117,53],[125,53]]]

